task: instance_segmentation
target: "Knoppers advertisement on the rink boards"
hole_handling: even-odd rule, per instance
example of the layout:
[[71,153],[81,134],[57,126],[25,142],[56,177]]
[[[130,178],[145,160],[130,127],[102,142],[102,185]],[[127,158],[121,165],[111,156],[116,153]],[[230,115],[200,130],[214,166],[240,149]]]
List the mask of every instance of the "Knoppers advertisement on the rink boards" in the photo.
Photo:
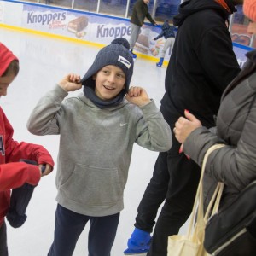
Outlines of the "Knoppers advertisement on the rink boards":
[[[60,9],[34,3],[19,3],[0,0],[0,22],[38,32],[46,32],[84,42],[110,44],[113,38],[131,36],[130,22],[127,19],[97,15],[71,9]],[[143,25],[141,34],[134,47],[135,52],[159,58],[165,38],[154,41],[161,32],[160,26]],[[245,53],[249,48],[234,45],[237,59],[246,61]],[[171,49],[166,52],[169,60]]]

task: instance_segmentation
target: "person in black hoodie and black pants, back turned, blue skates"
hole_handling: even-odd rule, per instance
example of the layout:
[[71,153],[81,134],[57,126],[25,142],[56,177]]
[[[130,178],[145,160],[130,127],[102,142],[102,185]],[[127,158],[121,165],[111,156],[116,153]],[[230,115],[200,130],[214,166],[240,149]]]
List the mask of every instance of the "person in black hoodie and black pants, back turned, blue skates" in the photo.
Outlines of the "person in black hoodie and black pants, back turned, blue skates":
[[[179,14],[173,19],[177,35],[160,106],[172,130],[184,109],[189,109],[207,128],[215,126],[221,95],[240,72],[226,22],[236,11],[236,4],[242,2],[189,0],[180,5]],[[172,131],[172,148],[159,154],[137,208],[128,252],[142,247],[148,256],[166,256],[168,236],[179,232],[192,211],[200,174],[200,166],[180,152],[180,143]]]

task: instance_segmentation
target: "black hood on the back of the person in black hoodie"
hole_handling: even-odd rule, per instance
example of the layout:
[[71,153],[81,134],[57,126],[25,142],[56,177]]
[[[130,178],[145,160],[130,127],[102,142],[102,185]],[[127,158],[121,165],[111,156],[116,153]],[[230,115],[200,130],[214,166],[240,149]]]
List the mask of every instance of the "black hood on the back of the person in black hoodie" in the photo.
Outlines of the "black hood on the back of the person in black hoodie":
[[[236,8],[231,0],[225,0],[225,3],[230,8],[231,14],[236,12]],[[181,26],[183,21],[189,16],[196,12],[204,9],[216,9],[220,15],[223,15],[224,19],[227,19],[230,13],[225,10],[217,1],[214,0],[188,0],[180,4],[178,8],[178,15],[173,18],[174,26]]]

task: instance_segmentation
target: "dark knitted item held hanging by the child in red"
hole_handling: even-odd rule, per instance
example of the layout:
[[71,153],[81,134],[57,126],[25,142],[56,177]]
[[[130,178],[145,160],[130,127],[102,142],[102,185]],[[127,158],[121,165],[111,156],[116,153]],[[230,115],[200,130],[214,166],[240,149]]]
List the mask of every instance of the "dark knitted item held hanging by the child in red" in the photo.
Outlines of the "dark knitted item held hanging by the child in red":
[[[31,165],[38,165],[37,162],[32,160],[24,160],[20,161],[26,162]],[[42,173],[45,170],[45,166],[43,167]],[[17,189],[12,189],[12,194],[10,198],[10,207],[9,212],[6,215],[9,224],[14,228],[20,228],[22,224],[26,221],[26,207],[29,204],[29,201],[32,198],[32,194],[35,186],[31,184],[25,183],[23,186]]]

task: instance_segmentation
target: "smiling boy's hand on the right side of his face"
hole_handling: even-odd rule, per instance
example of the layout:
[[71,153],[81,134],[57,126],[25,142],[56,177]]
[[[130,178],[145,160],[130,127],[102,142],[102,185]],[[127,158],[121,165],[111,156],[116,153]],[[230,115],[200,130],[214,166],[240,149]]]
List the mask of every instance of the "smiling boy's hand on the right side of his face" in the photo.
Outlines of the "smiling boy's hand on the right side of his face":
[[143,106],[150,102],[150,99],[148,97],[148,94],[146,90],[144,90],[142,87],[137,86],[131,86],[128,93],[125,96],[125,99],[137,106]]

